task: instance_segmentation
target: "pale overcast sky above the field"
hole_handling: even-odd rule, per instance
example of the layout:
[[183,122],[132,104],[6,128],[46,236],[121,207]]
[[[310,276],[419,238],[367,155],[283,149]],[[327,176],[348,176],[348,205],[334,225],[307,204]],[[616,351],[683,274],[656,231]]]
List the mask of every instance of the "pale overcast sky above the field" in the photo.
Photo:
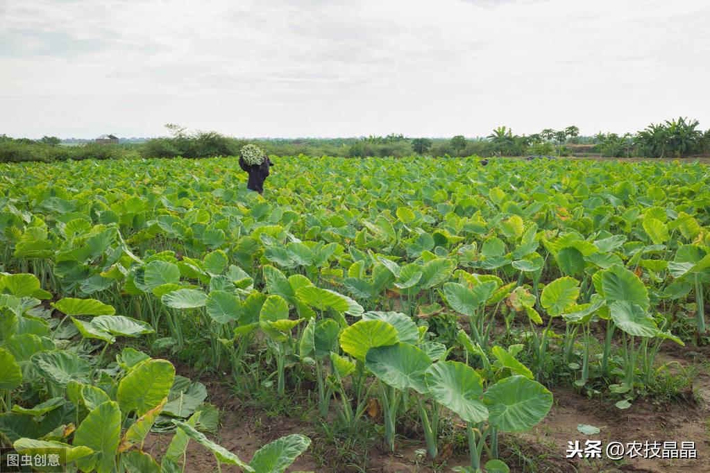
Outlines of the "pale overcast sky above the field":
[[710,128],[707,0],[0,0],[0,134]]

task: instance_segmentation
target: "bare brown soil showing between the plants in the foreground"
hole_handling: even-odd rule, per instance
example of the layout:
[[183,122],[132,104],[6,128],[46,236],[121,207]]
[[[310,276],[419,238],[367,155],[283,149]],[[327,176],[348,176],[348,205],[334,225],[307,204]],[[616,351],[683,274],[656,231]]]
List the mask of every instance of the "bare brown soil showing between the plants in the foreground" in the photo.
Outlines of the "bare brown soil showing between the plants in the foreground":
[[[683,350],[662,350],[659,362],[675,361],[681,365],[707,360],[710,349],[692,347]],[[195,379],[185,365],[178,365],[178,372]],[[264,411],[245,406],[217,377],[200,379],[209,391],[209,401],[222,409],[221,427],[217,435],[208,435],[220,445],[248,461],[261,446],[291,433],[302,433],[314,439],[309,450],[301,455],[287,472],[450,472],[452,467],[469,464],[464,448],[439,445],[448,455],[445,465],[433,469],[430,462],[417,462],[416,450],[425,447],[422,435],[410,435],[410,439],[398,440],[397,453],[391,455],[383,445],[374,445],[367,452],[366,467],[337,467],[329,461],[336,449],[319,441],[312,423],[312,416],[290,418],[270,417]],[[609,399],[589,399],[568,388],[551,389],[555,401],[545,421],[529,432],[501,435],[501,457],[510,466],[510,471],[522,472],[710,472],[710,376],[701,372],[694,380],[694,394],[687,400],[674,404],[655,404],[650,401],[634,401],[630,408],[616,408]],[[585,435],[577,425],[594,425],[601,431]],[[403,428],[402,430],[405,430]],[[171,435],[152,434],[146,439],[145,450],[160,457],[170,443]],[[586,440],[601,440],[603,448],[609,442],[694,442],[697,460],[670,460],[643,457],[613,461],[606,455],[601,459],[566,458],[568,443],[579,440],[584,448]],[[317,447],[316,447],[317,445]],[[318,449],[315,455],[314,449]],[[449,450],[449,451],[447,451]],[[643,447],[641,448],[643,453]],[[186,472],[216,472],[213,455],[195,442],[187,448]],[[532,466],[531,466],[532,465]],[[222,465],[223,472],[239,472],[236,467]]]

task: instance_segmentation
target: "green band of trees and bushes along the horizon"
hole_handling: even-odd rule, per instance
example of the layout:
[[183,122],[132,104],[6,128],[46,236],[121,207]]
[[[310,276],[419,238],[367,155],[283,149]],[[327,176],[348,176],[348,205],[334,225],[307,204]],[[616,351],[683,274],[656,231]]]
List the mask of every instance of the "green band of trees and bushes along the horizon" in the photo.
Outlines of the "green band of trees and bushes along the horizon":
[[697,120],[679,117],[651,123],[636,133],[580,135],[577,126],[562,130],[545,128],[540,133],[518,135],[499,126],[487,136],[466,138],[413,138],[402,134],[359,138],[233,138],[215,131],[188,131],[168,124],[168,134],[145,143],[101,145],[67,143],[53,136],[40,140],[0,135],[0,162],[82,160],[119,157],[212,157],[234,156],[242,146],[254,143],[271,155],[403,157],[433,156],[525,156],[601,155],[604,157],[688,157],[710,154],[710,129],[699,129]]

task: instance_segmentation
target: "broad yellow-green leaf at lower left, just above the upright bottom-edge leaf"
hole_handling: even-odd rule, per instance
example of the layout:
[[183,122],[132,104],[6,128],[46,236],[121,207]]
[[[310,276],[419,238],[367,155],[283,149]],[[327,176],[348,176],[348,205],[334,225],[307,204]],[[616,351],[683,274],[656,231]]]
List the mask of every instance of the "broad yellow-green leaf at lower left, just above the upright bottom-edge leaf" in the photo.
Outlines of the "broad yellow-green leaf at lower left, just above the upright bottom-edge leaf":
[[170,393],[175,379],[175,367],[168,360],[146,360],[131,369],[119,383],[116,395],[121,411],[136,411],[143,416],[158,406]]

